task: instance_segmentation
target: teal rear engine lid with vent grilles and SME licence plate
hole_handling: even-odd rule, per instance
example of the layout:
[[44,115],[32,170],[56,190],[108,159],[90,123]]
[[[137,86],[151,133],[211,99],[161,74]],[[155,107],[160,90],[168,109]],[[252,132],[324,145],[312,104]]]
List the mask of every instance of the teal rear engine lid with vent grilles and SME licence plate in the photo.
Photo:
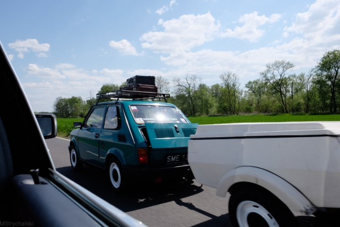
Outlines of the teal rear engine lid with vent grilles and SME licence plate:
[[150,165],[187,164],[188,140],[198,124],[145,123],[151,145]]

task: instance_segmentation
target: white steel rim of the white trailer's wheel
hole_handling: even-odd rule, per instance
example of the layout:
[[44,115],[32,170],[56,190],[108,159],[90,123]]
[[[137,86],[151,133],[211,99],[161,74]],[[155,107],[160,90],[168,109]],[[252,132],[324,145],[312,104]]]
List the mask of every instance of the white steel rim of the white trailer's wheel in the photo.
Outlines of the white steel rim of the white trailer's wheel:
[[271,215],[263,206],[254,201],[248,200],[241,202],[237,206],[236,217],[240,226],[249,227],[247,218],[250,213],[256,213],[260,215],[267,222],[269,227],[279,226],[279,223],[275,220],[274,216]]

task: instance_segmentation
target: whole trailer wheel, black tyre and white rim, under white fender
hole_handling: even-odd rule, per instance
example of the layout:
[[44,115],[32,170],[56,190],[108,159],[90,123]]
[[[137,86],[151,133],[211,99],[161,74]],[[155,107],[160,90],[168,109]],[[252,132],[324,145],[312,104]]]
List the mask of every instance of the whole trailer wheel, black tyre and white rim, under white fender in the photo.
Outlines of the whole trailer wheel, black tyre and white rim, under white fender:
[[290,209],[277,197],[262,190],[240,190],[229,199],[229,217],[233,227],[298,226]]

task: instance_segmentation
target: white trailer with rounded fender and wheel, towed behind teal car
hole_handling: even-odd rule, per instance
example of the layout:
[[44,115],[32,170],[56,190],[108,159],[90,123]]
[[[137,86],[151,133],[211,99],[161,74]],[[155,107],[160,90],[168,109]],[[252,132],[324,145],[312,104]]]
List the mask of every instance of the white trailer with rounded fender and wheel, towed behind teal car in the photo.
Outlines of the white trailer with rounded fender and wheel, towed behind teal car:
[[292,211],[340,208],[339,139],[340,122],[199,125],[188,161],[198,183],[231,194],[233,226],[294,226]]

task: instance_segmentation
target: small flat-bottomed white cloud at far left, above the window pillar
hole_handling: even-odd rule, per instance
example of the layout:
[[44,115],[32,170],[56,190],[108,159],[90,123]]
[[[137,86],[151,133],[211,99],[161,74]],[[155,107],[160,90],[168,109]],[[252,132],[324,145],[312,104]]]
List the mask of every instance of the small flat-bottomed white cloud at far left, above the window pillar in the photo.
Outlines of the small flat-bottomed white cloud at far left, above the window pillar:
[[29,52],[33,50],[34,52],[46,52],[49,50],[48,43],[40,44],[36,39],[26,39],[26,40],[16,40],[13,43],[9,43],[8,46],[15,49],[18,52]]

